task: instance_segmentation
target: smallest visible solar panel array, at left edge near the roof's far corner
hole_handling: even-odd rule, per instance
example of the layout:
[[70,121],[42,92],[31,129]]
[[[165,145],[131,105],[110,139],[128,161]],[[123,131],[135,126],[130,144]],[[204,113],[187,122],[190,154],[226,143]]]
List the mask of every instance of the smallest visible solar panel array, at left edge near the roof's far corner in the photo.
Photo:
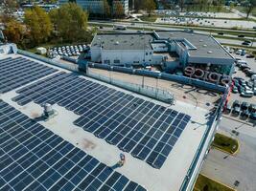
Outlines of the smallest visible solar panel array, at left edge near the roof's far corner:
[[0,60],[0,93],[7,93],[57,71],[23,57],[2,59]]

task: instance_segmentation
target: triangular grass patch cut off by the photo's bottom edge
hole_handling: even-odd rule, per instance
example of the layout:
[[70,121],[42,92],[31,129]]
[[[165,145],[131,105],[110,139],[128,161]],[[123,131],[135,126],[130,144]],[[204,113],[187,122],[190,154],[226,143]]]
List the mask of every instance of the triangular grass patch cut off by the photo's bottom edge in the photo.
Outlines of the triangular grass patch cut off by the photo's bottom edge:
[[220,182],[211,180],[201,174],[198,175],[198,180],[195,184],[194,191],[235,191]]

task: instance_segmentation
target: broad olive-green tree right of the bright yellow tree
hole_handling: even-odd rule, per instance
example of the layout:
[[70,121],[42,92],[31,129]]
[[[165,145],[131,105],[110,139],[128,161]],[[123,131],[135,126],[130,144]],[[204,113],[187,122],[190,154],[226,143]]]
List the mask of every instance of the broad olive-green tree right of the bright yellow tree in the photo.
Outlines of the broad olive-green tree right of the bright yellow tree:
[[64,41],[75,42],[87,39],[88,15],[77,4],[64,4],[58,10],[50,11],[50,17],[58,37]]

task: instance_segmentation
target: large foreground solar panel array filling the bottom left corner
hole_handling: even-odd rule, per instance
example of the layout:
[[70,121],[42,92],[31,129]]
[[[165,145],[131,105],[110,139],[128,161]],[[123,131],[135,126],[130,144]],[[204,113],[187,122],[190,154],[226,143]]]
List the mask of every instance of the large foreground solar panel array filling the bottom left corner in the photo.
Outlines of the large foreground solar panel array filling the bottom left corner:
[[0,190],[146,189],[0,100]]

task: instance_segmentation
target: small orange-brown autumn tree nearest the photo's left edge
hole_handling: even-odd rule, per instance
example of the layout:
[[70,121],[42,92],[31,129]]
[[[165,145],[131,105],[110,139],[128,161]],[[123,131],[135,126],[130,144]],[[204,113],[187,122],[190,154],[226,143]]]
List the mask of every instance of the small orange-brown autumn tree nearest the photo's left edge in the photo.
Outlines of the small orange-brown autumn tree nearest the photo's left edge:
[[20,44],[25,35],[25,26],[21,25],[15,19],[11,19],[5,24],[5,30],[3,32],[8,41]]

